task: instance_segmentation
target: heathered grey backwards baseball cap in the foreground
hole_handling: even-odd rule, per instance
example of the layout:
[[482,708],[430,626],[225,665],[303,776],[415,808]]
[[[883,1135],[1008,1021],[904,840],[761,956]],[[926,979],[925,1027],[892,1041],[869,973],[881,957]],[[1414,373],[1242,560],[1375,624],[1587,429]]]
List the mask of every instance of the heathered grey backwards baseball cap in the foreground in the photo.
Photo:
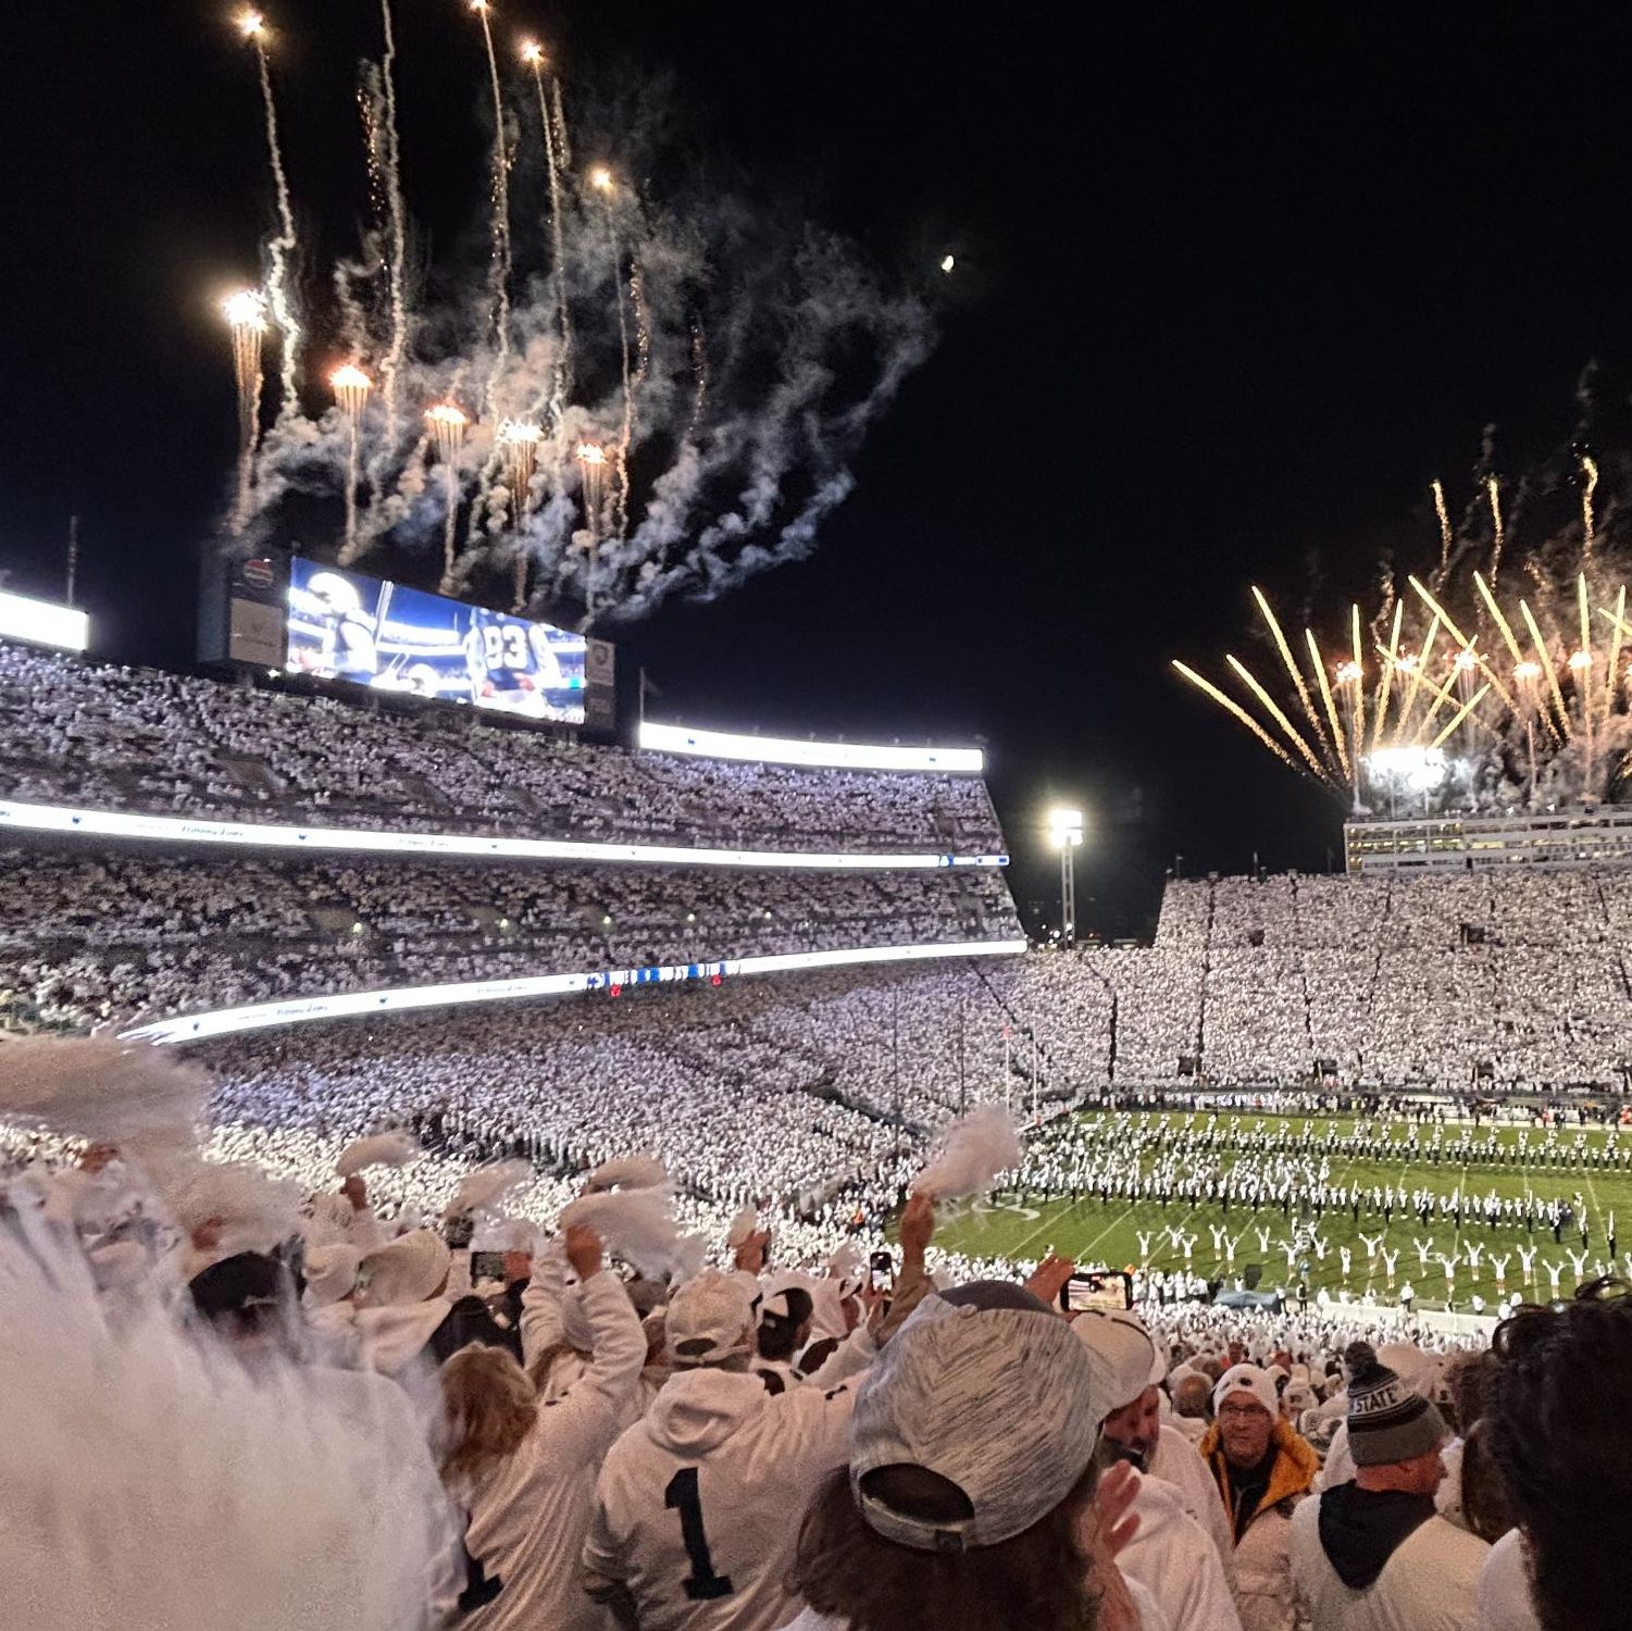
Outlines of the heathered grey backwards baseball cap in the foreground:
[[[981,1290],[927,1296],[867,1373],[850,1417],[857,1509],[876,1535],[916,1551],[996,1546],[1031,1528],[1087,1471],[1105,1415],[1066,1321],[1017,1287],[1002,1287],[1004,1298]],[[969,1515],[899,1510],[868,1487],[885,1468],[935,1474]]]

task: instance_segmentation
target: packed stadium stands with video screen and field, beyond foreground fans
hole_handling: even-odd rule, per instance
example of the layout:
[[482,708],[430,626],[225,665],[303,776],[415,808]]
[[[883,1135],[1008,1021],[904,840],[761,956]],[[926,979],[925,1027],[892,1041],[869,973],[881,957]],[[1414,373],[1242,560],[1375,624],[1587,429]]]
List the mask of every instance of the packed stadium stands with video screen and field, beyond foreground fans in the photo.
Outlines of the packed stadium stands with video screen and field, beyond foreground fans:
[[886,1246],[938,1131],[1002,1104],[1031,1136],[943,1229],[971,1264],[1454,1326],[1616,1262],[1632,870],[1379,872],[1355,838],[1346,877],[1170,880],[1147,947],[1031,949],[979,749],[645,718],[625,744],[615,653],[581,640],[578,728],[478,722],[480,678],[380,682],[439,627],[468,674],[468,607],[330,571],[372,655],[317,669],[318,576],[220,580],[197,676],[52,650],[65,609],[20,598],[0,647],[5,1024],[186,1048],[220,1153],[317,1184],[434,1127],[387,1215],[521,1154],[542,1221],[658,1149],[698,1223],[752,1203],[818,1260]]

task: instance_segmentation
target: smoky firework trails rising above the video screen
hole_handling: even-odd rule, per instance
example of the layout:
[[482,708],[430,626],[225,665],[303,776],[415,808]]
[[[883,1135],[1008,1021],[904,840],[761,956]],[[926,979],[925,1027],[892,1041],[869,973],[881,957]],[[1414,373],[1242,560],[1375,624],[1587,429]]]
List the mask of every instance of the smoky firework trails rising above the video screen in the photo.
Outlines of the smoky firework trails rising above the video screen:
[[[268,542],[279,537],[286,519],[281,506],[312,491],[320,462],[313,451],[325,447],[325,438],[326,447],[338,449],[338,434],[344,433],[346,452],[333,465],[336,473],[341,459],[346,465],[348,560],[375,544],[418,547],[428,482],[432,504],[442,496],[432,469],[437,462],[447,500],[444,526],[455,529],[454,540],[468,557],[449,545],[444,531],[444,567],[452,562],[460,583],[467,573],[511,562],[514,539],[508,534],[522,526],[530,563],[550,575],[548,588],[558,602],[588,599],[592,588],[602,607],[628,616],[687,584],[712,596],[749,573],[806,553],[819,516],[850,487],[850,460],[871,420],[927,354],[922,304],[875,279],[831,235],[805,238],[798,247],[765,237],[757,225],[744,235],[752,209],[702,186],[648,216],[609,167],[573,170],[561,85],[542,46],[521,52],[521,65],[534,75],[534,98],[521,109],[521,127],[529,129],[535,101],[543,171],[537,196],[524,201],[519,189],[512,196],[516,129],[503,101],[490,8],[478,3],[472,10],[488,67],[480,90],[483,132],[490,98],[493,118],[491,144],[483,139],[480,165],[493,194],[491,260],[483,255],[473,269],[481,279],[475,299],[459,292],[449,276],[452,268],[428,264],[423,287],[447,289],[450,296],[444,310],[428,312],[421,323],[413,294],[421,287],[413,276],[416,240],[406,224],[398,140],[397,70],[398,51],[406,51],[406,13],[397,15],[395,0],[375,3],[384,52],[362,65],[359,98],[369,225],[362,253],[341,256],[323,284],[336,291],[338,312],[313,312],[307,331],[323,322],[338,359],[370,358],[377,366],[370,361],[374,387],[359,400],[349,400],[354,393],[344,380],[335,385],[326,426],[317,415],[307,418],[295,395],[295,364],[305,367],[307,358],[295,344],[290,312],[292,304],[300,305],[300,286],[294,278],[294,212],[279,149],[279,109],[271,101],[268,72],[276,41],[259,16],[242,23],[243,42],[255,49],[261,72],[277,191],[266,300],[268,317],[284,340],[286,392],[276,424],[255,441],[248,470],[253,482],[240,478],[240,498],[224,531],[248,534],[253,527]],[[287,96],[282,82],[277,90]],[[282,109],[292,111],[292,104]],[[574,184],[573,176],[581,180]],[[548,217],[540,222],[548,232],[540,260],[548,264],[537,279],[516,278],[521,268],[511,263],[512,206],[524,217]],[[761,242],[744,250],[756,233]],[[483,243],[483,250],[488,247]],[[305,251],[307,243],[302,240],[299,248]],[[597,300],[597,310],[591,310],[576,291],[594,284],[597,271],[604,279],[609,269],[614,300]],[[845,291],[844,302],[832,299],[836,287]],[[671,304],[669,296],[679,299]],[[467,322],[467,313],[475,320]],[[713,367],[705,344],[710,328],[723,336]],[[871,341],[863,353],[855,344],[858,333]],[[826,387],[823,400],[792,387],[774,389],[767,400],[767,380],[831,382],[855,354],[871,358],[876,374],[860,400],[840,402],[840,392]],[[661,382],[663,389],[653,390],[648,382]],[[411,436],[415,415],[408,403],[418,398],[418,407],[426,408],[454,392],[473,398],[468,410],[459,410],[468,413],[468,426],[480,413],[491,428],[480,457],[470,447],[475,436],[459,447],[446,446],[447,426],[436,418],[423,420],[423,434]],[[496,428],[506,420],[542,424],[537,442],[522,447],[501,439]],[[651,485],[641,495],[632,467],[648,444]],[[594,452],[579,456],[574,472],[579,446]],[[659,452],[669,454],[667,467],[658,462]],[[519,470],[517,459],[526,460]],[[573,547],[574,475],[584,493],[588,555]],[[643,462],[640,477],[646,477]],[[246,504],[253,504],[248,516]],[[465,537],[459,537],[467,526]],[[576,542],[581,545],[583,537]],[[597,549],[604,542],[619,547]]]

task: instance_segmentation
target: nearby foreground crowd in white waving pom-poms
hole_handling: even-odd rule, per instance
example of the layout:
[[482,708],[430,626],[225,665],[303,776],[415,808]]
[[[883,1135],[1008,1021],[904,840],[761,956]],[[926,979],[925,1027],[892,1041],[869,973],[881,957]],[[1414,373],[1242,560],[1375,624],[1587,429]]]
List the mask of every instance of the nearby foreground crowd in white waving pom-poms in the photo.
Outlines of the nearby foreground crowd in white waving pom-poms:
[[300,1182],[201,1159],[202,1086],[0,1048],[33,1117],[0,1161],[0,1579],[33,1631],[1624,1623],[1617,1282],[1457,1345],[1071,1313],[1069,1262],[937,1257],[989,1174],[906,1169],[886,1262],[752,1208],[682,1239],[650,1151],[467,1164],[393,1215],[393,1174],[454,1162],[379,1130]]

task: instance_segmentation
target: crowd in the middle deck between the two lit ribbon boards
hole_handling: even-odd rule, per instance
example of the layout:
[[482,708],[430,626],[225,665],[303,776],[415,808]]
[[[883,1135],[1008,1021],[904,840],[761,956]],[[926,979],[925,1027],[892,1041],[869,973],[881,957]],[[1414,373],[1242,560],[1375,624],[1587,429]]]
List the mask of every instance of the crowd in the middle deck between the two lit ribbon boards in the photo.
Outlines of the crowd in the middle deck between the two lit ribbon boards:
[[375,986],[1013,939],[996,873],[0,851],[0,1015],[126,1024]]

